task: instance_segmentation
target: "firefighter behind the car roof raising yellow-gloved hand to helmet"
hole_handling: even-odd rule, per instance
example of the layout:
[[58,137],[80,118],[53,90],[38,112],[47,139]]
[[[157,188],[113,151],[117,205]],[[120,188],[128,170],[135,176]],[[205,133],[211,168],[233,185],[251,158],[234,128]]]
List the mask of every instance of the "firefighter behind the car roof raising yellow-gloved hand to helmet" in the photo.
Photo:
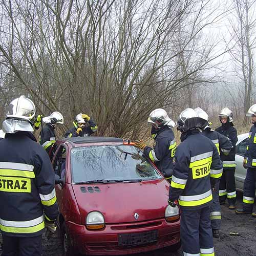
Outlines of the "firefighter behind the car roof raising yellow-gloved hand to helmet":
[[[86,125],[86,124],[89,125]],[[87,114],[78,114],[73,122],[74,127],[66,132],[65,138],[87,137],[95,133],[98,129],[97,123]]]

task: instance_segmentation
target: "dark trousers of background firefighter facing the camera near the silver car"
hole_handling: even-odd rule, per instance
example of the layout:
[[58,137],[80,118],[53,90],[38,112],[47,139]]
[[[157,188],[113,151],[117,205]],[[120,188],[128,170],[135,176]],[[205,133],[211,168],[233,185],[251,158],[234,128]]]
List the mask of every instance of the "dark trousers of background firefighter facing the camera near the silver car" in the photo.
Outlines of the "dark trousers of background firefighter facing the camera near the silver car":
[[227,198],[229,205],[236,204],[237,192],[234,170],[235,168],[223,168],[219,190],[220,203],[225,203]]

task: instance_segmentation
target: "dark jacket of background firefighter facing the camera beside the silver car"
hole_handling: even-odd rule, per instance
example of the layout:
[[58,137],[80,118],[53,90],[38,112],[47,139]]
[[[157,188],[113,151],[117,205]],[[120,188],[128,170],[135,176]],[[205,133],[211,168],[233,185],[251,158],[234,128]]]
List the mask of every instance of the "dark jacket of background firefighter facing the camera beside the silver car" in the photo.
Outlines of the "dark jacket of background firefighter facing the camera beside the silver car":
[[228,155],[221,153],[221,160],[223,161],[224,168],[236,168],[236,143],[238,142],[237,130],[233,127],[232,123],[223,123],[216,131],[226,136],[232,143],[232,149]]

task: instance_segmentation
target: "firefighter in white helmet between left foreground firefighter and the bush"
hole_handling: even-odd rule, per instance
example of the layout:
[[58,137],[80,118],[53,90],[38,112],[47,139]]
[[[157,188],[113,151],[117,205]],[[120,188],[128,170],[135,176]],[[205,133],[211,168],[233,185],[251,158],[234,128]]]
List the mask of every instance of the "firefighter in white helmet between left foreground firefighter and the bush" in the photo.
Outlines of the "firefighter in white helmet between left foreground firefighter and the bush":
[[57,123],[63,124],[63,116],[59,112],[53,112],[50,116],[43,117],[42,121],[45,125],[40,132],[39,142],[49,154],[52,145],[56,141],[54,133],[55,125]]

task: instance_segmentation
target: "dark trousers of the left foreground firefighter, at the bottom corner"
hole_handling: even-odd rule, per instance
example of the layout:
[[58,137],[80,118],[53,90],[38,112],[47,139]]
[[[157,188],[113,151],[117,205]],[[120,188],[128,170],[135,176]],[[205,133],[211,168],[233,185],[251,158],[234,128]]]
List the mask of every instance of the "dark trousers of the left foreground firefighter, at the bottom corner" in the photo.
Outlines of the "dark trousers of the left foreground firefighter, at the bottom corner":
[[42,236],[10,237],[3,234],[2,256],[40,256]]

